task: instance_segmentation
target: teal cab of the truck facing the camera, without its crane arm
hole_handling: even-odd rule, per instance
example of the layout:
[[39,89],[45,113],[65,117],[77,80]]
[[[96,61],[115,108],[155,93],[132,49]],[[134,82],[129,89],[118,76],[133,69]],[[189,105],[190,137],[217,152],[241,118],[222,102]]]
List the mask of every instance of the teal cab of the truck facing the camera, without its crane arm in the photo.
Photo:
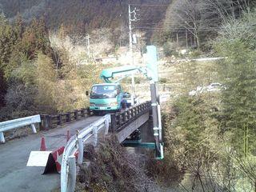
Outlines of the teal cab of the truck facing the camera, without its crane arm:
[[94,113],[121,110],[123,95],[119,83],[95,84],[90,90],[90,110]]

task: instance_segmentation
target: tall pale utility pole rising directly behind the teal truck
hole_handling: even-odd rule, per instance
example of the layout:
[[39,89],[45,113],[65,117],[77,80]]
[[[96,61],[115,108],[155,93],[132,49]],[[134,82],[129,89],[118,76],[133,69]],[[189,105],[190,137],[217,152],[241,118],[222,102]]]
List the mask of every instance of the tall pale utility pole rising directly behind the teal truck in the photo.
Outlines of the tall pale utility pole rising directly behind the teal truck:
[[[134,10],[130,9],[130,4],[128,5],[128,14],[129,14],[129,52],[130,52],[130,56],[131,56],[131,60],[130,60],[130,65],[134,65],[134,50],[133,50],[133,27],[132,27],[132,22],[137,22],[138,18],[137,18],[137,13],[136,11],[138,11],[136,8],[134,8]],[[132,17],[133,15],[133,17]],[[132,105],[134,105],[134,95],[135,95],[135,81],[134,81],[134,75],[132,75],[131,77],[131,86],[132,86]]]

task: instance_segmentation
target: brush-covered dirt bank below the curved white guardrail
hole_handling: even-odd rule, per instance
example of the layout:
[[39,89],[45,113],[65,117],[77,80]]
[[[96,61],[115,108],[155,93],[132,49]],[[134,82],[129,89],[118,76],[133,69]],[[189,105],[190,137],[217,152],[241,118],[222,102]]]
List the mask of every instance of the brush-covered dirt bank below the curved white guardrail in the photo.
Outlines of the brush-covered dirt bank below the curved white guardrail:
[[146,174],[145,156],[129,153],[114,138],[97,150],[86,146],[84,156],[90,164],[79,167],[76,191],[160,191]]

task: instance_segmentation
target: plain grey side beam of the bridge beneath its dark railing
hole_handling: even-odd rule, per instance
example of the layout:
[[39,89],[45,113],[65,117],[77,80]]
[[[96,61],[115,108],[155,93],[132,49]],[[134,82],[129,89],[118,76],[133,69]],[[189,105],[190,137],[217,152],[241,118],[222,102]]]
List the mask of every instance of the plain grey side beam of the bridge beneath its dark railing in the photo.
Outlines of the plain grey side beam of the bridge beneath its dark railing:
[[118,131],[117,138],[118,141],[121,143],[126,138],[130,136],[135,130],[137,130],[139,127],[141,127],[144,123],[146,123],[150,118],[150,112],[147,112],[145,114],[142,114],[139,118],[134,120],[134,122],[130,122],[128,126],[126,126],[125,129]]

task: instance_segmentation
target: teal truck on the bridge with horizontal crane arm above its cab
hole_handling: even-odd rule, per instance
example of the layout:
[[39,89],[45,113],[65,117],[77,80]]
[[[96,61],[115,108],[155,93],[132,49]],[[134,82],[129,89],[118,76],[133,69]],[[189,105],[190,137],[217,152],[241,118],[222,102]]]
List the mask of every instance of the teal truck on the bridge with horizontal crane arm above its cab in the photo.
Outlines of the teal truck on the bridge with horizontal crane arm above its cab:
[[[123,78],[138,72],[136,66],[122,66],[102,70],[101,78],[105,83],[95,84],[90,90],[90,110],[94,114],[104,112],[120,111],[134,105],[134,95],[130,95],[122,90],[119,82]],[[110,79],[118,78],[115,82]],[[89,95],[89,93],[86,93]]]

